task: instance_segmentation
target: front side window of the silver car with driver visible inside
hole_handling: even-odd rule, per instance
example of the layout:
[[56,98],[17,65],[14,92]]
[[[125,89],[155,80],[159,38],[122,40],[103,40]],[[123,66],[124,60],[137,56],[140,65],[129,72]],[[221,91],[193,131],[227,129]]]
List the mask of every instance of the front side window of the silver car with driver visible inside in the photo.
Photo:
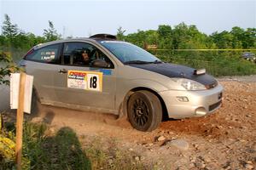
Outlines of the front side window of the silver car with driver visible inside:
[[[113,65],[110,59],[101,50],[89,43],[67,42],[64,43],[62,65],[94,66],[96,59],[105,60]],[[110,67],[110,66],[109,66]]]

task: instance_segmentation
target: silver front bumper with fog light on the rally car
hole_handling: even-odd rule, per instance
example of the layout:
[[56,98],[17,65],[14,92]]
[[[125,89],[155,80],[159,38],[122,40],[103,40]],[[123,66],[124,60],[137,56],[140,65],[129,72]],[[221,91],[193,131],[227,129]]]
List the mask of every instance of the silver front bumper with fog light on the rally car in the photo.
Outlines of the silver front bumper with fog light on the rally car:
[[[168,90],[160,92],[166,104],[168,116],[174,119],[185,117],[206,116],[216,111],[222,102],[223,87],[201,91]],[[189,101],[179,101],[177,97],[187,97]]]

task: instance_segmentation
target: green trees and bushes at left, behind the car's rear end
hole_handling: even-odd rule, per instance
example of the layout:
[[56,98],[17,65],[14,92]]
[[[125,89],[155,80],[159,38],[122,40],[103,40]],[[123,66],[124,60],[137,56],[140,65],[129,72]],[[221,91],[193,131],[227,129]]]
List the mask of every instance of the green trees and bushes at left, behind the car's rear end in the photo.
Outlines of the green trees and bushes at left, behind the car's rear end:
[[20,60],[29,48],[58,38],[60,35],[55,31],[51,21],[49,29],[44,30],[44,37],[39,37],[21,31],[16,24],[12,24],[9,15],[5,14],[0,35],[0,84],[9,84],[9,74],[18,71],[14,61]]

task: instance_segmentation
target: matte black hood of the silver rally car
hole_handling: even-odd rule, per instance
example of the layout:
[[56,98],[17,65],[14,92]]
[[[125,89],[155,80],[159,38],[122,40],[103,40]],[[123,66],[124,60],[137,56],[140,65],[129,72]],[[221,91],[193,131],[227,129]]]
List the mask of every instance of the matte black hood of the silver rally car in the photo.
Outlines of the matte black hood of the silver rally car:
[[145,65],[130,65],[132,67],[137,67],[147,71],[153,71],[164,75],[166,77],[180,77],[193,80],[195,82],[200,82],[209,88],[214,88],[217,86],[218,82],[210,75],[195,75],[195,69],[184,66],[184,65],[174,65],[169,63],[160,63],[160,64],[145,64]]

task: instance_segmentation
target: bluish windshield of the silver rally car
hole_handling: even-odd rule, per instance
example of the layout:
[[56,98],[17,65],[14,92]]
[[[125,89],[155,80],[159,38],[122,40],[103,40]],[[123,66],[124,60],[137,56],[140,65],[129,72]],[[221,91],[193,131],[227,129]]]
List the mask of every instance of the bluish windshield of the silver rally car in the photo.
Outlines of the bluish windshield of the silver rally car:
[[139,48],[129,42],[102,41],[101,44],[125,64],[160,61],[160,59],[148,53],[143,48]]

